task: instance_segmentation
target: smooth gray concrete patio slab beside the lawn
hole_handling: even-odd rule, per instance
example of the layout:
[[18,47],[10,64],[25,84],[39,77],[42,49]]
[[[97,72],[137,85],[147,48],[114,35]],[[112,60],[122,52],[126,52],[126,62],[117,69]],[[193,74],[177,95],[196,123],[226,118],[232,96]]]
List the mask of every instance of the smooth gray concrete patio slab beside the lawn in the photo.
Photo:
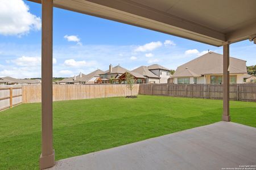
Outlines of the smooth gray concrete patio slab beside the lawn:
[[63,159],[48,169],[222,169],[256,164],[256,128],[217,122]]

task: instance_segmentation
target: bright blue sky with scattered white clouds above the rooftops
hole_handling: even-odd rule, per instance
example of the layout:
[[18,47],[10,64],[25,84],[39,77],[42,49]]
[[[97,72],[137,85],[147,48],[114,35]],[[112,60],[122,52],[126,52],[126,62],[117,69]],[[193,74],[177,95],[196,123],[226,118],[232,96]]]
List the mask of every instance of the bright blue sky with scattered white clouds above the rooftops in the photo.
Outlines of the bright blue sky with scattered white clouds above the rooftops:
[[[40,77],[41,5],[1,3],[0,77]],[[53,76],[105,71],[110,63],[129,70],[159,63],[175,70],[208,49],[222,54],[221,47],[59,8],[53,11]],[[256,45],[249,40],[232,44],[230,56],[255,65]]]

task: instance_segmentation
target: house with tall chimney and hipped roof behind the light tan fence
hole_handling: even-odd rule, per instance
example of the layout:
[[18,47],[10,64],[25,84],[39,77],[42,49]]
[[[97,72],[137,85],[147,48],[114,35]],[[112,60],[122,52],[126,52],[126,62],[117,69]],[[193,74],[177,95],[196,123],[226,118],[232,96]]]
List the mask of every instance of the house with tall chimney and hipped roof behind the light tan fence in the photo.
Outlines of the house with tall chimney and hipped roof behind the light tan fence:
[[121,66],[115,66],[113,67],[112,64],[109,65],[109,70],[106,70],[104,73],[100,74],[100,78],[102,80],[102,83],[109,83],[110,79],[113,79],[115,83],[118,83],[118,78],[123,73],[127,72],[129,70],[121,67]]

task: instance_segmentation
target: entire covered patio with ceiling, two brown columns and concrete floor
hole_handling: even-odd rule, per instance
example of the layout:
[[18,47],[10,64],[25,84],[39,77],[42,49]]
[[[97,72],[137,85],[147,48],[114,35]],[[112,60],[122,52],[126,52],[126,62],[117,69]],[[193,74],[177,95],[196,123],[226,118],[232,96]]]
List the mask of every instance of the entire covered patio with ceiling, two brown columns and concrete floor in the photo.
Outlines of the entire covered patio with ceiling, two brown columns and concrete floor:
[[[188,130],[186,133],[180,132],[170,134],[170,142],[175,143],[174,146],[180,145],[176,154],[172,155],[168,152],[171,143],[155,141],[149,139],[148,145],[143,144],[134,146],[132,150],[129,147],[121,147],[121,151],[116,152],[116,148],[110,149],[110,154],[102,151],[102,154],[88,154],[81,156],[80,163],[67,160],[57,162],[56,167],[60,167],[67,163],[68,169],[83,169],[83,167],[92,167],[94,164],[104,168],[106,164],[118,168],[119,165],[123,169],[132,169],[129,166],[140,169],[154,169],[154,166],[160,166],[159,163],[164,162],[167,165],[162,167],[168,169],[168,164],[176,165],[175,167],[183,166],[184,159],[185,169],[194,167],[196,163],[203,163],[199,169],[210,169],[213,163],[218,165],[233,166],[237,162],[244,164],[255,163],[255,138],[249,134],[255,134],[253,128],[243,125],[234,125],[236,130],[233,130],[233,124],[230,123],[229,115],[229,45],[249,39],[256,44],[256,1],[216,1],[216,0],[170,0],[170,1],[151,1],[151,0],[30,0],[33,2],[42,3],[42,154],[40,156],[40,168],[49,168],[55,165],[55,152],[53,150],[53,126],[52,126],[52,25],[53,25],[53,6],[66,10],[76,11],[83,14],[98,16],[105,19],[115,20],[126,24],[136,25],[154,31],[168,33],[186,39],[203,42],[214,46],[223,46],[223,115],[221,124],[214,124],[211,131],[204,131],[199,128],[201,138],[205,137],[204,141],[198,141],[199,138],[193,140],[193,130]],[[195,5],[196,3],[196,5]],[[210,126],[210,125],[209,125]],[[243,128],[241,128],[241,126]],[[210,126],[212,127],[212,126]],[[206,127],[207,128],[207,127]],[[241,129],[242,131],[241,131]],[[207,128],[210,129],[210,128]],[[194,129],[195,130],[195,129]],[[238,130],[238,131],[237,131]],[[239,134],[237,134],[239,133]],[[244,138],[246,136],[246,138]],[[168,138],[167,137],[160,137]],[[185,142],[183,139],[189,139],[191,143]],[[245,140],[247,139],[248,140]],[[232,139],[235,139],[232,141]],[[198,143],[197,143],[198,142]],[[232,143],[233,142],[233,143]],[[190,146],[192,144],[192,146]],[[168,146],[169,145],[169,146]],[[193,147],[199,147],[199,150],[193,150]],[[148,151],[144,150],[148,147]],[[162,148],[160,148],[162,147]],[[186,148],[190,149],[187,150]],[[207,148],[216,148],[209,151]],[[128,149],[127,149],[128,148]],[[227,155],[222,155],[222,148],[226,150]],[[57,149],[57,148],[56,148]],[[175,148],[173,148],[175,149]],[[204,150],[206,149],[206,150]],[[137,150],[137,155],[134,155],[134,150]],[[142,151],[144,154],[141,154]],[[225,151],[224,150],[224,151]],[[228,154],[228,151],[233,150],[233,155]],[[252,153],[251,151],[254,151]],[[243,158],[239,156],[242,153]],[[126,156],[124,156],[126,155]],[[158,160],[157,155],[162,155]],[[164,156],[163,156],[164,155]],[[197,155],[197,156],[196,156]],[[203,156],[198,156],[203,155]],[[135,161],[136,156],[141,162]],[[152,156],[152,157],[151,157]],[[134,164],[129,164],[129,160],[133,160]],[[90,161],[96,158],[96,162]],[[116,159],[118,162],[108,162],[107,160]],[[167,159],[168,158],[168,159]],[[208,159],[207,159],[208,158]],[[217,159],[218,158],[218,159]],[[222,158],[222,159],[220,159]],[[228,160],[227,164],[224,159]],[[246,161],[247,160],[247,161]],[[143,162],[144,163],[143,163]],[[191,162],[192,161],[192,162]],[[243,162],[244,161],[244,162]],[[80,166],[81,165],[81,166]],[[144,166],[145,165],[145,166]],[[194,166],[195,165],[195,166]],[[83,167],[82,167],[83,166]],[[212,165],[213,166],[213,165]],[[184,167],[181,167],[184,168]],[[225,168],[225,167],[224,167]],[[99,168],[98,168],[99,169]],[[179,168],[177,168],[179,169]],[[212,168],[213,169],[213,168]],[[216,169],[216,168],[214,168]]]

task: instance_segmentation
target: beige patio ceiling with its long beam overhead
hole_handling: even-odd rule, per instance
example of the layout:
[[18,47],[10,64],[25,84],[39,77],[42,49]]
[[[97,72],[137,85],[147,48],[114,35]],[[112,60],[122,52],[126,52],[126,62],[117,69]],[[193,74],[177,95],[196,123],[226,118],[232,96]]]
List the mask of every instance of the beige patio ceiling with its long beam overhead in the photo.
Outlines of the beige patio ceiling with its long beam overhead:
[[214,46],[256,35],[254,0],[54,0],[53,5]]

